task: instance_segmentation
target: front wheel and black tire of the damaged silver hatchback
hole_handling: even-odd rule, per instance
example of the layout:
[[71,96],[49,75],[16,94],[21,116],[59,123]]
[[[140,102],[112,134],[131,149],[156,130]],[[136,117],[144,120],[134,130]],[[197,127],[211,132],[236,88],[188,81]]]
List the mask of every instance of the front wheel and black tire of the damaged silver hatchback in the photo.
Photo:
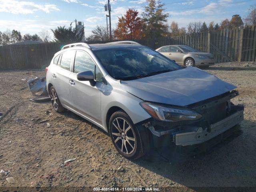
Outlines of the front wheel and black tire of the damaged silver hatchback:
[[112,114],[109,122],[112,143],[122,156],[136,159],[143,156],[149,146],[148,132],[144,127],[136,127],[130,117],[123,111]]

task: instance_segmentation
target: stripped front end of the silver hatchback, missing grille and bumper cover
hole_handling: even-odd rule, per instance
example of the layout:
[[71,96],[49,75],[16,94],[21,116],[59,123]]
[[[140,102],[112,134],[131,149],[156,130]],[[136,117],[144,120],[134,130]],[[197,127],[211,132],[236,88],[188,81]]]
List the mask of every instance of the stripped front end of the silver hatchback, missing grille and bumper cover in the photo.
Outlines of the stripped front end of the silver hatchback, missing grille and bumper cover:
[[[146,126],[152,133],[155,147],[167,146],[171,142],[175,143],[176,146],[201,144],[240,126],[240,122],[244,118],[244,106],[234,105],[230,102],[236,96],[238,96],[236,90],[226,92],[185,106],[183,111],[187,111],[187,114],[180,114],[177,117],[170,117],[171,115],[165,114],[172,121],[163,121],[161,117],[158,117],[160,120],[152,118],[142,125]],[[156,110],[153,107],[151,111],[153,113]],[[150,109],[147,111],[150,112]],[[194,112],[194,114],[189,112]],[[178,118],[186,119],[177,121]]]

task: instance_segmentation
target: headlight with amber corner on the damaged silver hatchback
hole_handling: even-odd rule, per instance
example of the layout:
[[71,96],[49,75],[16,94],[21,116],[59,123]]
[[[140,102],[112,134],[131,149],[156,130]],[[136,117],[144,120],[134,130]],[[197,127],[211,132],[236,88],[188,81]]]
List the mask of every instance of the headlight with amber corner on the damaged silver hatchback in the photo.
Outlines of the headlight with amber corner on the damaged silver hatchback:
[[179,122],[179,121],[190,121],[198,120],[202,117],[197,112],[191,110],[168,108],[149,102],[141,102],[140,105],[146,112],[148,112],[153,118],[162,121]]

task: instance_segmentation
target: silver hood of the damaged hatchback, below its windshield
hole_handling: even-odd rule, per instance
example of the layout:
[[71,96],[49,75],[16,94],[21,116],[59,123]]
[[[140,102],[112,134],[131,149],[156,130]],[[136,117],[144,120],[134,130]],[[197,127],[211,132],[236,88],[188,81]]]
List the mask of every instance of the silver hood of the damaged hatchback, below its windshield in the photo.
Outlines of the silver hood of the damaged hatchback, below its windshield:
[[121,81],[121,87],[142,100],[177,106],[187,106],[236,88],[195,67]]

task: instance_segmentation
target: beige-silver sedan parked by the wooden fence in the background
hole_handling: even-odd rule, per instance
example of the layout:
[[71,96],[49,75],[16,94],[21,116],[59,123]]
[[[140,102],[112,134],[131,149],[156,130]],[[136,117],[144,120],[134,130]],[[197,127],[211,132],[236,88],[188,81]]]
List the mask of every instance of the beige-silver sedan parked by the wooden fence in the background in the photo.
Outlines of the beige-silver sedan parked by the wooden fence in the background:
[[185,67],[208,67],[214,65],[215,62],[213,54],[198,52],[187,45],[167,45],[156,49],[156,51]]

